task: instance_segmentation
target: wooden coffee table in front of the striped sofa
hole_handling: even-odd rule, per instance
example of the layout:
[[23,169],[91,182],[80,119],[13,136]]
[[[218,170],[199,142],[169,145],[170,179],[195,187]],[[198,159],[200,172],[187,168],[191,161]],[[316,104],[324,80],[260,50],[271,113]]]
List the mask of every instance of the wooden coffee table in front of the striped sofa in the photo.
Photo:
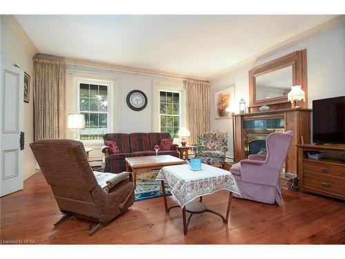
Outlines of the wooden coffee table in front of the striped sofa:
[[126,157],[126,171],[133,173],[134,188],[137,186],[138,171],[161,169],[164,166],[184,164],[185,161],[172,155],[149,155],[146,157]]

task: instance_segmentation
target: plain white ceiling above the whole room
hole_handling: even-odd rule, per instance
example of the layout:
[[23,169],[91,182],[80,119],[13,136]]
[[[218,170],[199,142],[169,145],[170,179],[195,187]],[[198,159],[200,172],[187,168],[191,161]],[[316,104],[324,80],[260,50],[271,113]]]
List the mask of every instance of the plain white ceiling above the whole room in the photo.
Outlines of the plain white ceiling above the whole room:
[[39,52],[208,77],[337,15],[16,15]]

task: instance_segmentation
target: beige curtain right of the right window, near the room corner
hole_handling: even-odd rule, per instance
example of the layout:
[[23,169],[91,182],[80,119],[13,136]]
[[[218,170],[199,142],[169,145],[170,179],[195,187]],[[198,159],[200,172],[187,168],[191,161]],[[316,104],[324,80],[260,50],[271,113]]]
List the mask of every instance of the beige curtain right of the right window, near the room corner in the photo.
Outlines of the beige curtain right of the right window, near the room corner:
[[186,79],[187,121],[190,144],[197,144],[197,136],[210,130],[210,82]]

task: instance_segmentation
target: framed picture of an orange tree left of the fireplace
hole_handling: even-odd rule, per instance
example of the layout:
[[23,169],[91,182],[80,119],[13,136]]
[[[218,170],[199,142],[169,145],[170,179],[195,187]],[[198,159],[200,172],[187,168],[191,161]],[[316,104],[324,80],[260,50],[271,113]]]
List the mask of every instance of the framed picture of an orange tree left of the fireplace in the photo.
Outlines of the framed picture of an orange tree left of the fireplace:
[[215,119],[231,117],[235,111],[235,86],[215,92]]

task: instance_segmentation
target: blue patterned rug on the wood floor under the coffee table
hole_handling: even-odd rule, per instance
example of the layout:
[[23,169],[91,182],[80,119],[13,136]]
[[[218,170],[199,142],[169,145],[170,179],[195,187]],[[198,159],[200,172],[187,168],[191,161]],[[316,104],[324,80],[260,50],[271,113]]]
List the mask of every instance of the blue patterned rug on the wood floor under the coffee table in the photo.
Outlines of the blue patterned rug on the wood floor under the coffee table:
[[[156,181],[159,170],[141,171],[137,174],[137,188],[135,202],[161,197],[161,181]],[[170,187],[166,186],[166,195],[171,195]]]

